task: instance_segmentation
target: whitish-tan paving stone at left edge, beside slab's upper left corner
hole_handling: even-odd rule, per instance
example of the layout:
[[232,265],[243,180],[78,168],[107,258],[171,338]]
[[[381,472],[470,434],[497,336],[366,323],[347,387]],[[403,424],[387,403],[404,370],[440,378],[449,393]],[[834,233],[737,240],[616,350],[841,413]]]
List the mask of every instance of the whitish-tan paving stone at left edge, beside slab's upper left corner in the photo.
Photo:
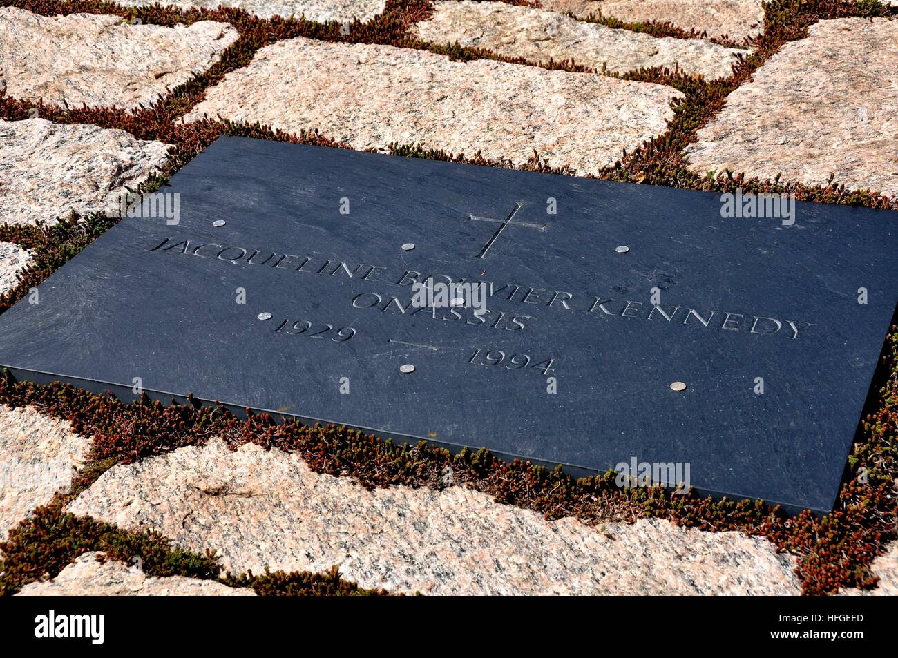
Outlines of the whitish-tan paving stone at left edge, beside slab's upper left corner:
[[75,211],[113,212],[165,163],[168,146],[124,130],[43,118],[0,120],[0,223],[53,224]]

